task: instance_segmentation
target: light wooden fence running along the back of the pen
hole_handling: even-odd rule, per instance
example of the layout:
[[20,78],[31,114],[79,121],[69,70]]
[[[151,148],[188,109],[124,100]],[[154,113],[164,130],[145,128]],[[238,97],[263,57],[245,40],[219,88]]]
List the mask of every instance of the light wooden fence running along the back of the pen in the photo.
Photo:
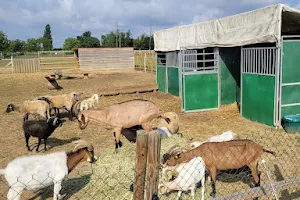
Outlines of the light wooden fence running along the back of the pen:
[[[36,57],[33,57],[36,56]],[[33,73],[44,70],[97,71],[111,69],[136,69],[155,71],[155,51],[133,48],[78,49],[78,56],[68,52],[38,52],[11,60],[1,60],[0,73]],[[7,64],[10,65],[7,65]]]

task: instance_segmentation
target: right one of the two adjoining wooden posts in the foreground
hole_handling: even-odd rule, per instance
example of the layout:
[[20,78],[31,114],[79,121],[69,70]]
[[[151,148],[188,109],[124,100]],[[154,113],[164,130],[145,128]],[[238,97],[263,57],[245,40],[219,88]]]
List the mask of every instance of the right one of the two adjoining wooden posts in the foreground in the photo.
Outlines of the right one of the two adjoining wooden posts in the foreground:
[[147,165],[147,192],[148,200],[158,193],[160,167],[161,135],[157,130],[151,131],[148,136],[148,165]]

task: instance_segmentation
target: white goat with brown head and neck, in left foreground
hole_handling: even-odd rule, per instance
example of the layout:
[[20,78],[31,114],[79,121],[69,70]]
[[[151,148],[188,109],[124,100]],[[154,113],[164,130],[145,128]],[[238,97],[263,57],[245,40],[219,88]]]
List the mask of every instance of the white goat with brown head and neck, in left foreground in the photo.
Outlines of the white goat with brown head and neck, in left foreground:
[[56,152],[16,158],[0,170],[9,184],[8,200],[19,200],[24,189],[34,190],[54,184],[53,199],[59,194],[63,179],[81,162],[94,163],[97,157],[91,144],[78,140],[72,152]]

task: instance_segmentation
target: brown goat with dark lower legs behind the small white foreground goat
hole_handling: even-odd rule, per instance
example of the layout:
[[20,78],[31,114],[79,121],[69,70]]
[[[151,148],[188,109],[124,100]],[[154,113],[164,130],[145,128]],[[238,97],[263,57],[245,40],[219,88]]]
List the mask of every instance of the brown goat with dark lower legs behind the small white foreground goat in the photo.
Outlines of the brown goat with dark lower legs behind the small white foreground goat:
[[217,170],[239,169],[247,165],[251,170],[256,186],[259,186],[258,160],[263,152],[275,155],[274,152],[263,149],[257,143],[247,139],[206,142],[188,152],[177,155],[164,154],[163,164],[175,166],[178,163],[188,162],[196,156],[202,157],[212,178],[213,191],[210,195],[215,197]]

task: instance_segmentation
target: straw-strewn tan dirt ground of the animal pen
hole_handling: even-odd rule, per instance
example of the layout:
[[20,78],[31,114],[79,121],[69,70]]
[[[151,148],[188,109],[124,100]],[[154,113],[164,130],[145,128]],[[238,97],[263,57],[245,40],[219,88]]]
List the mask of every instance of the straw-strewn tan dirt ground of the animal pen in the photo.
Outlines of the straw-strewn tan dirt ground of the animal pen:
[[[78,76],[73,79],[58,80],[58,83],[64,89],[61,91],[50,91],[47,89],[47,82],[44,75],[49,74],[0,74],[0,168],[4,168],[11,160],[19,156],[45,153],[43,151],[43,145],[38,153],[35,151],[27,151],[20,114],[16,112],[8,114],[5,113],[6,107],[9,103],[21,103],[24,100],[30,100],[40,95],[64,94],[73,91],[82,92],[83,97],[89,97],[94,93],[99,93],[101,90],[113,90],[116,87],[155,84],[155,74],[150,73],[97,73],[92,74],[89,79],[83,79],[81,76]],[[273,181],[287,180],[292,177],[300,176],[300,136],[297,134],[287,134],[282,129],[275,129],[247,120],[240,116],[236,104],[226,105],[215,111],[184,114],[181,112],[179,97],[160,92],[150,92],[101,97],[96,107],[105,107],[114,103],[136,98],[153,101],[162,113],[168,111],[176,112],[180,117],[179,132],[186,140],[203,141],[209,136],[218,135],[224,131],[232,130],[237,133],[240,138],[253,139],[264,148],[277,153],[276,157],[271,155],[263,156],[263,158],[267,161]],[[76,120],[69,121],[67,118],[65,119],[66,121],[63,126],[59,127],[48,139],[47,153],[70,151],[74,147],[71,142],[82,138],[94,144],[95,152],[100,159],[101,157],[105,157],[105,153],[113,156],[113,135],[112,132],[107,130],[105,126],[102,124],[90,123],[85,130],[80,130]],[[122,141],[124,140],[126,139],[122,138]],[[31,148],[34,147],[37,144],[37,139],[31,138],[30,144]],[[124,146],[126,145],[131,145],[131,148],[133,148],[130,150],[132,152],[128,152],[127,155],[129,157],[134,157],[135,145],[125,143]],[[122,150],[123,153],[125,150],[126,148],[124,147]],[[126,153],[124,155],[126,156]],[[118,157],[118,159],[120,159],[120,157]],[[119,169],[122,167],[122,163],[120,163],[120,166],[112,166],[113,164],[109,161],[105,165],[107,170],[109,170],[109,168]],[[101,166],[103,167],[103,163]],[[72,181],[74,187],[70,190],[64,191],[65,193],[68,193],[65,199],[102,199],[99,197],[96,198],[97,191],[95,192],[95,188],[93,188],[93,192],[95,193],[93,194],[93,198],[88,198],[90,196],[83,198],[81,196],[92,191],[88,190],[91,186],[86,186],[89,185],[90,178],[88,174],[90,173],[90,169],[91,168],[88,164],[81,163],[76,170],[70,174],[69,181]],[[96,167],[93,169],[96,169]],[[268,184],[269,179],[266,173],[264,173],[266,170],[262,166],[260,166],[260,170],[263,172],[262,184]],[[128,177],[123,178],[125,179]],[[118,184],[118,179],[115,179],[116,183],[112,183],[112,185],[110,185],[111,191],[114,191],[114,184]],[[3,177],[1,177],[0,180],[0,199],[5,199],[7,194],[6,182]],[[95,182],[93,182],[93,184],[95,184]],[[126,188],[127,191],[129,185],[124,185],[122,187]],[[206,198],[208,198],[208,194],[211,191],[210,185],[206,185],[206,188]],[[219,181],[217,181],[218,196],[237,192],[241,189],[249,189],[249,186],[240,180],[224,181],[219,179]],[[279,192],[279,195],[282,196],[283,199],[300,199],[299,189],[298,183],[298,188],[293,187],[292,189],[283,191],[282,193]],[[97,190],[100,191],[101,188],[97,188]],[[40,196],[34,192],[24,192],[24,199],[51,199],[52,193],[48,193],[49,194],[46,196]],[[103,191],[100,193],[102,193],[102,195],[104,194]],[[198,193],[196,193],[196,195],[197,194]],[[126,195],[128,196],[128,194]],[[118,198],[113,198],[108,195],[107,198],[103,199],[128,198],[125,198],[125,193],[123,194],[123,192],[117,196]],[[176,197],[176,194],[174,197]],[[186,195],[184,199],[189,199],[188,197],[189,196]],[[267,198],[272,198],[272,196],[268,196]]]

